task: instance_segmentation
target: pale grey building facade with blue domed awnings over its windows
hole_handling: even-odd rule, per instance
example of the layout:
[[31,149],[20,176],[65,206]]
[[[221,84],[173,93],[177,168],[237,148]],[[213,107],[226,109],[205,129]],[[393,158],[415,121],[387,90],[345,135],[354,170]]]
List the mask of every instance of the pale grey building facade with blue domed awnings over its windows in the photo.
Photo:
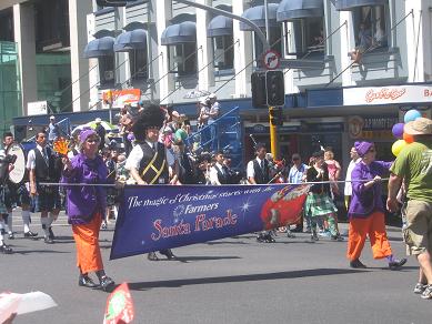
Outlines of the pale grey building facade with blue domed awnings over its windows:
[[[197,99],[188,93],[209,90],[227,108],[241,107],[249,151],[251,134],[269,142],[268,112],[250,101],[251,73],[263,63],[262,43],[248,26],[181,1],[133,1],[124,8],[93,2],[84,50],[91,105],[103,107],[107,89],[133,88],[144,101],[193,114]],[[263,1],[195,2],[249,18],[265,32]],[[430,98],[416,95],[428,91],[423,83],[432,75],[432,1],[268,2],[269,43],[283,58],[288,94],[279,128],[285,158],[300,148],[309,154],[330,145],[342,159],[358,139],[390,152],[390,130],[401,111],[416,107],[430,115]],[[409,92],[404,85],[416,94],[395,100],[398,91]]]

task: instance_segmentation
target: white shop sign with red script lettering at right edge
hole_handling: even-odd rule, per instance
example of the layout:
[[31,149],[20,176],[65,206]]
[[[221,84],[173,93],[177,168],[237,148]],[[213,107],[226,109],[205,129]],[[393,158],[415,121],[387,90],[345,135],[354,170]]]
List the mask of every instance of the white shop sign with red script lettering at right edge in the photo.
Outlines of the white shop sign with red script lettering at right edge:
[[343,105],[432,103],[432,85],[359,87],[343,89]]

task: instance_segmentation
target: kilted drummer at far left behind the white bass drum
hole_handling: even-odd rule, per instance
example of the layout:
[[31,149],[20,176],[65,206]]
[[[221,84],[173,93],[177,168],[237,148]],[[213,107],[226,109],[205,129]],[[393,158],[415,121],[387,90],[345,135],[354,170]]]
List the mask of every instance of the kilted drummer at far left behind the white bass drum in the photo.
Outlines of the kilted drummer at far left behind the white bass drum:
[[[11,132],[6,132],[3,134],[3,146],[8,151],[8,148],[14,142],[13,134]],[[30,231],[30,195],[29,191],[26,188],[26,184],[16,184],[10,180],[6,182],[4,186],[4,204],[8,209],[8,227],[9,227],[9,239],[13,240],[13,227],[12,227],[12,210],[14,205],[21,206],[21,217],[24,226],[24,237],[36,237],[38,233]]]

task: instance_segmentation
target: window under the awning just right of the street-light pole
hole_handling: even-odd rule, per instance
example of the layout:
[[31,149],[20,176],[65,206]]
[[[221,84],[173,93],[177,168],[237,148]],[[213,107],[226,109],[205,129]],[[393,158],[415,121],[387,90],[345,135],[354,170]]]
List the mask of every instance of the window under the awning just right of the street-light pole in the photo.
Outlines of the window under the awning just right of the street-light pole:
[[321,17],[310,17],[284,22],[287,49],[285,55],[297,55],[297,59],[322,58],[324,54],[324,20]]

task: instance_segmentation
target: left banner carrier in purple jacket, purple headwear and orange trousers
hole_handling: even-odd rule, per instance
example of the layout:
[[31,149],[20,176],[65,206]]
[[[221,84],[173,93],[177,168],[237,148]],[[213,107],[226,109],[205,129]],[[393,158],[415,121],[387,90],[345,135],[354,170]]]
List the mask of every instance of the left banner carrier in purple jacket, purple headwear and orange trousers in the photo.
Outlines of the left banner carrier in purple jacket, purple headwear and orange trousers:
[[[62,158],[64,169],[63,183],[107,183],[108,169],[98,154],[100,138],[91,129],[80,133],[80,154],[69,160]],[[67,186],[68,222],[72,225],[77,244],[77,265],[80,271],[78,284],[84,287],[98,285],[89,276],[96,272],[100,287],[110,291],[114,286],[112,279],[103,270],[99,246],[99,232],[107,209],[107,191],[103,186]]]

